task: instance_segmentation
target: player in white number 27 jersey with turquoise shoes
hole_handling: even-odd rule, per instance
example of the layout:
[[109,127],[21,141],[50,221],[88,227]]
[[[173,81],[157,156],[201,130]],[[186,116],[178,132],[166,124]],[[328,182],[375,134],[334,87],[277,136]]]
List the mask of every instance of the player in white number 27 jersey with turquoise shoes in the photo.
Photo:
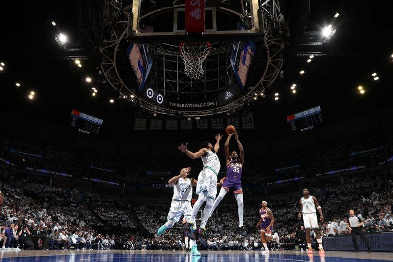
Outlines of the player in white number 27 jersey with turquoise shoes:
[[168,213],[168,221],[162,225],[157,234],[163,234],[167,229],[179,222],[182,215],[191,216],[193,208],[191,207],[191,198],[193,197],[193,186],[197,185],[197,180],[188,178],[191,168],[183,168],[180,175],[173,176],[169,179],[168,184],[173,185],[172,203]]

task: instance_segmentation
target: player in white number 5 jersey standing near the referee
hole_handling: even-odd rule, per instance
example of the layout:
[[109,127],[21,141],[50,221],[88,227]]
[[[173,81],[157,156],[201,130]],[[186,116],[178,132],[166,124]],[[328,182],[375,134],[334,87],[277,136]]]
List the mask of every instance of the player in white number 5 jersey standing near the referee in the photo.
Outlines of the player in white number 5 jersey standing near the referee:
[[319,245],[319,252],[323,252],[322,238],[319,234],[318,219],[316,218],[316,210],[319,212],[319,219],[323,222],[322,208],[316,197],[310,196],[308,188],[303,189],[303,197],[299,200],[300,212],[298,217],[303,216],[304,227],[306,228],[306,240],[309,252],[312,252],[310,231],[314,229],[316,241]]

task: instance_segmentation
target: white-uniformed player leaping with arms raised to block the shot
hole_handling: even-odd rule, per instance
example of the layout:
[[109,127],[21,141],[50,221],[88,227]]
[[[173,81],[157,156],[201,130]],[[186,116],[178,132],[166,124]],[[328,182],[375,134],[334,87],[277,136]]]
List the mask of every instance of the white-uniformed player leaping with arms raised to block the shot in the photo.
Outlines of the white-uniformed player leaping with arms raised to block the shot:
[[213,208],[213,203],[217,195],[217,186],[224,182],[224,178],[220,183],[217,183],[217,175],[220,171],[220,160],[218,159],[217,152],[220,149],[220,140],[223,138],[221,134],[216,135],[216,144],[214,147],[210,144],[209,141],[204,141],[201,144],[201,149],[195,153],[189,151],[187,149],[188,143],[186,145],[181,144],[178,146],[178,149],[182,152],[185,152],[187,156],[190,158],[196,159],[200,157],[203,163],[203,169],[198,175],[197,181],[197,195],[198,200],[194,204],[193,212],[191,218],[187,220],[185,224],[185,228],[188,228],[187,234],[189,238],[193,241],[192,244],[192,252],[197,255],[197,245],[195,244],[195,239],[192,238],[192,234],[194,229],[196,229],[195,217],[197,216],[197,212],[200,206],[206,202],[205,209],[202,213],[202,221],[200,223],[199,229],[195,230],[195,233],[200,241],[200,243],[206,247],[206,223],[209,219],[211,209]]

